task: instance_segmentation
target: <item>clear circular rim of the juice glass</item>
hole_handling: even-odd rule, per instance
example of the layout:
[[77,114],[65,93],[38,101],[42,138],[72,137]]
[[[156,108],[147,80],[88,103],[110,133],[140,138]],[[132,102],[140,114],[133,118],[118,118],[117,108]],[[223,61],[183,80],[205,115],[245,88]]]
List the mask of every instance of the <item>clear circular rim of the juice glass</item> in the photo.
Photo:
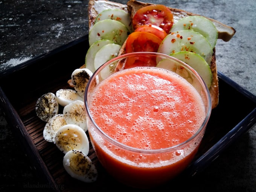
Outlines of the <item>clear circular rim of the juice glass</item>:
[[[131,146],[128,146],[128,145],[125,145],[123,143],[120,143],[116,140],[114,140],[112,137],[108,136],[104,131],[101,130],[101,128],[95,123],[95,121],[93,120],[92,116],[91,116],[91,113],[90,113],[90,110],[89,110],[89,106],[88,106],[88,102],[87,102],[87,93],[88,93],[88,88],[89,88],[89,85],[91,84],[91,81],[93,81],[96,76],[98,75],[98,73],[105,67],[107,66],[108,64],[112,63],[112,62],[115,62],[117,60],[120,60],[120,59],[123,59],[123,58],[127,58],[128,56],[137,56],[137,55],[152,55],[152,56],[162,56],[162,57],[165,57],[165,58],[168,58],[168,59],[172,59],[174,61],[177,61],[179,62],[180,64],[183,64],[184,66],[187,67],[187,69],[189,69],[190,71],[192,71],[194,73],[194,75],[197,77],[197,79],[200,81],[200,84],[203,86],[203,89],[206,90],[206,95],[207,95],[207,105],[208,105],[208,108],[207,108],[207,111],[206,111],[206,116],[204,118],[204,121],[203,123],[201,124],[200,128],[195,132],[195,134],[193,134],[193,136],[191,136],[189,139],[187,139],[186,141],[182,142],[182,143],[179,143],[177,145],[174,145],[174,146],[171,146],[171,147],[168,147],[168,148],[162,148],[162,149],[139,149],[139,148],[135,148],[135,147],[131,147]],[[179,59],[177,58],[174,58],[170,55],[166,55],[166,54],[163,54],[163,53],[156,53],[156,52],[133,52],[133,53],[125,53],[123,55],[119,55],[107,62],[105,62],[104,64],[102,64],[102,66],[100,66],[97,70],[95,70],[95,72],[93,73],[93,75],[91,76],[91,78],[89,79],[88,83],[87,83],[87,86],[85,88],[85,94],[84,94],[84,104],[85,104],[85,111],[87,113],[87,121],[88,121],[88,118],[89,120],[93,123],[93,126],[96,127],[96,129],[98,131],[101,132],[102,134],[102,137],[104,136],[104,139],[107,139],[111,144],[114,144],[114,145],[117,145],[119,146],[120,148],[122,149],[126,149],[128,151],[133,151],[133,152],[139,152],[139,153],[143,153],[143,154],[154,154],[154,153],[163,153],[163,152],[170,152],[170,150],[172,151],[176,151],[176,150],[179,150],[180,148],[182,148],[183,146],[187,146],[187,143],[189,143],[191,140],[193,140],[195,137],[197,137],[201,131],[203,130],[203,128],[207,125],[208,123],[208,120],[210,118],[210,114],[211,114],[211,111],[212,111],[212,101],[211,101],[211,98],[210,98],[210,92],[209,92],[209,89],[208,87],[206,86],[205,82],[203,81],[203,79],[201,78],[201,76],[192,68],[190,67],[188,64],[186,64],[185,62],[183,61],[180,61]],[[89,129],[88,129],[89,130]]]

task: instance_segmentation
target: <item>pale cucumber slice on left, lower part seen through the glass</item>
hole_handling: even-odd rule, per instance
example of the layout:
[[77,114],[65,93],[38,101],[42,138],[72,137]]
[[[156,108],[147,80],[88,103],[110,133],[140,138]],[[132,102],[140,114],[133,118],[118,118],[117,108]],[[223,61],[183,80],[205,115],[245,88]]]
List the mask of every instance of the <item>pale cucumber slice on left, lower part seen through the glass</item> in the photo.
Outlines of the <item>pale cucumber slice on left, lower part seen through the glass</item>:
[[[94,68],[98,69],[102,64],[115,58],[118,55],[121,46],[115,43],[103,46],[95,55]],[[100,76],[105,79],[112,72],[113,66],[105,67],[101,70]]]

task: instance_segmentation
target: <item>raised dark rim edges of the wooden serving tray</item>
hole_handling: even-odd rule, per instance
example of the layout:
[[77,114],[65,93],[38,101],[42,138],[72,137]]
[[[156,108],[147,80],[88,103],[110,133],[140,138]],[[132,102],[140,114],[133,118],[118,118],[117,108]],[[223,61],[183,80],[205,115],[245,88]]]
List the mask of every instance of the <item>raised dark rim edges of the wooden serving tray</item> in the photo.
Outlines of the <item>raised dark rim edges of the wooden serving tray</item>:
[[[29,67],[30,65],[34,65],[38,61],[40,61],[40,59],[53,56],[56,53],[59,53],[67,48],[70,48],[86,40],[88,40],[88,34],[76,40],[73,40],[67,44],[64,44],[60,47],[57,47],[56,49],[53,49],[49,52],[43,53],[42,55],[36,56],[35,58],[29,59],[17,66],[14,66],[14,67],[11,67],[10,69],[2,71],[0,72],[0,79],[10,75],[11,73],[15,73],[15,72],[18,72],[19,70]],[[229,77],[227,77],[226,75],[224,75],[219,71],[218,71],[218,78],[226,82],[229,86],[235,88],[239,93],[243,94],[246,98],[250,99],[252,102],[256,103],[256,96],[254,94],[242,88],[235,81],[233,81],[232,79],[230,79]],[[32,165],[34,165],[34,169],[43,173],[44,180],[47,181],[52,186],[51,189],[53,191],[59,192],[56,181],[53,179],[52,175],[50,174],[45,162],[41,158],[29,133],[27,132],[26,127],[24,126],[22,120],[20,119],[17,111],[10,103],[5,92],[2,90],[1,86],[0,86],[0,109],[3,110],[3,114],[8,123],[8,126],[11,128],[12,133],[14,133],[15,137],[17,138],[19,138],[20,136],[23,137],[23,139],[21,139],[21,142],[25,146],[24,152],[29,157],[29,160],[31,161]],[[221,154],[222,151],[224,151],[228,146],[230,146],[233,142],[235,142],[235,140],[238,139],[238,137],[240,137],[242,134],[246,133],[251,128],[253,128],[254,125],[256,125],[255,117],[256,117],[256,108],[254,108],[241,122],[239,122],[235,127],[233,127],[232,130],[230,130],[224,137],[222,137],[218,142],[216,142],[215,145],[213,145],[209,150],[207,150],[206,153],[198,157],[197,160],[195,160],[195,162],[192,163],[186,169],[186,171],[184,171],[182,175],[194,176],[195,174],[203,171],[203,169],[206,168],[208,165],[210,165],[210,163],[212,163],[219,156],[219,154]],[[12,123],[13,119],[15,119],[15,122],[17,124]],[[230,142],[229,138],[231,137],[235,137],[236,139],[235,140],[232,139]],[[207,163],[204,163],[203,166],[198,167],[198,164],[201,162],[201,160],[205,158],[208,159]]]

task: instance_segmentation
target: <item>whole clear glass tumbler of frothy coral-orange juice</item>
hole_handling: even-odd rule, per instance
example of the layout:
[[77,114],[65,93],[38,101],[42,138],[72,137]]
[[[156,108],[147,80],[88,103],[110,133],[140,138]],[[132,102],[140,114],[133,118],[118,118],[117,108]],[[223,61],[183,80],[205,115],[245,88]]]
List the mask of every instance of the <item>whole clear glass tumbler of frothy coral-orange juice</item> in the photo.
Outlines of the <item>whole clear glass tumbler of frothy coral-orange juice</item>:
[[117,56],[85,90],[91,143],[118,181],[149,188],[180,174],[193,160],[211,113],[198,73],[169,55]]

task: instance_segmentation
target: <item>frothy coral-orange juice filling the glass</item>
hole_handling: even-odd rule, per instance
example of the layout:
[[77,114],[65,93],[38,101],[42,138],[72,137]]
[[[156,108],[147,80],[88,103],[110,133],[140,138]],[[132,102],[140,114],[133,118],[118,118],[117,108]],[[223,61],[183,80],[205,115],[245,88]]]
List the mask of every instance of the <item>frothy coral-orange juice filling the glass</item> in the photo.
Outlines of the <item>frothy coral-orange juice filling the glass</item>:
[[137,182],[133,186],[172,178],[189,165],[203,137],[200,133],[189,144],[166,149],[192,137],[206,111],[195,88],[165,69],[136,67],[114,73],[96,87],[88,105],[108,137],[88,123],[100,162],[126,184]]

